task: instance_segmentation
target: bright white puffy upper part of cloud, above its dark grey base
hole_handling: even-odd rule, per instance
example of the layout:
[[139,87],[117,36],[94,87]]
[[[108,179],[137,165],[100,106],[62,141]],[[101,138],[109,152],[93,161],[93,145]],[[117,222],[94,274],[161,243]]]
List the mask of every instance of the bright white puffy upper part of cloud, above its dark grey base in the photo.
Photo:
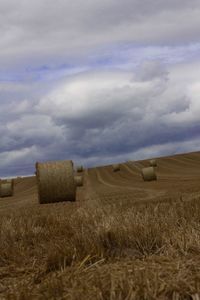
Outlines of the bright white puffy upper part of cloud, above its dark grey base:
[[112,115],[127,114],[138,107],[143,110],[149,100],[147,94],[158,95],[165,82],[134,81],[130,72],[91,72],[81,74],[56,87],[35,107],[37,112],[48,113],[65,120],[97,120]]

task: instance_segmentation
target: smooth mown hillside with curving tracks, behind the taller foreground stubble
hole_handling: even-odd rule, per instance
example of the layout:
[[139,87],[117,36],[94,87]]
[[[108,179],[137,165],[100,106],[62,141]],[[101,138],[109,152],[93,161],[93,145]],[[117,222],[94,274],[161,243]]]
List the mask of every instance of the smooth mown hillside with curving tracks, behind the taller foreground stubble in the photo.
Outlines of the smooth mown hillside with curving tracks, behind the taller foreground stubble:
[[[112,166],[85,169],[84,185],[77,188],[77,203],[91,200],[109,201],[130,199],[133,202],[164,201],[182,197],[200,197],[200,152],[157,159],[157,181],[144,182],[141,169],[148,160],[121,163],[120,171]],[[0,198],[0,212],[38,204],[35,176],[14,180],[14,196]]]

